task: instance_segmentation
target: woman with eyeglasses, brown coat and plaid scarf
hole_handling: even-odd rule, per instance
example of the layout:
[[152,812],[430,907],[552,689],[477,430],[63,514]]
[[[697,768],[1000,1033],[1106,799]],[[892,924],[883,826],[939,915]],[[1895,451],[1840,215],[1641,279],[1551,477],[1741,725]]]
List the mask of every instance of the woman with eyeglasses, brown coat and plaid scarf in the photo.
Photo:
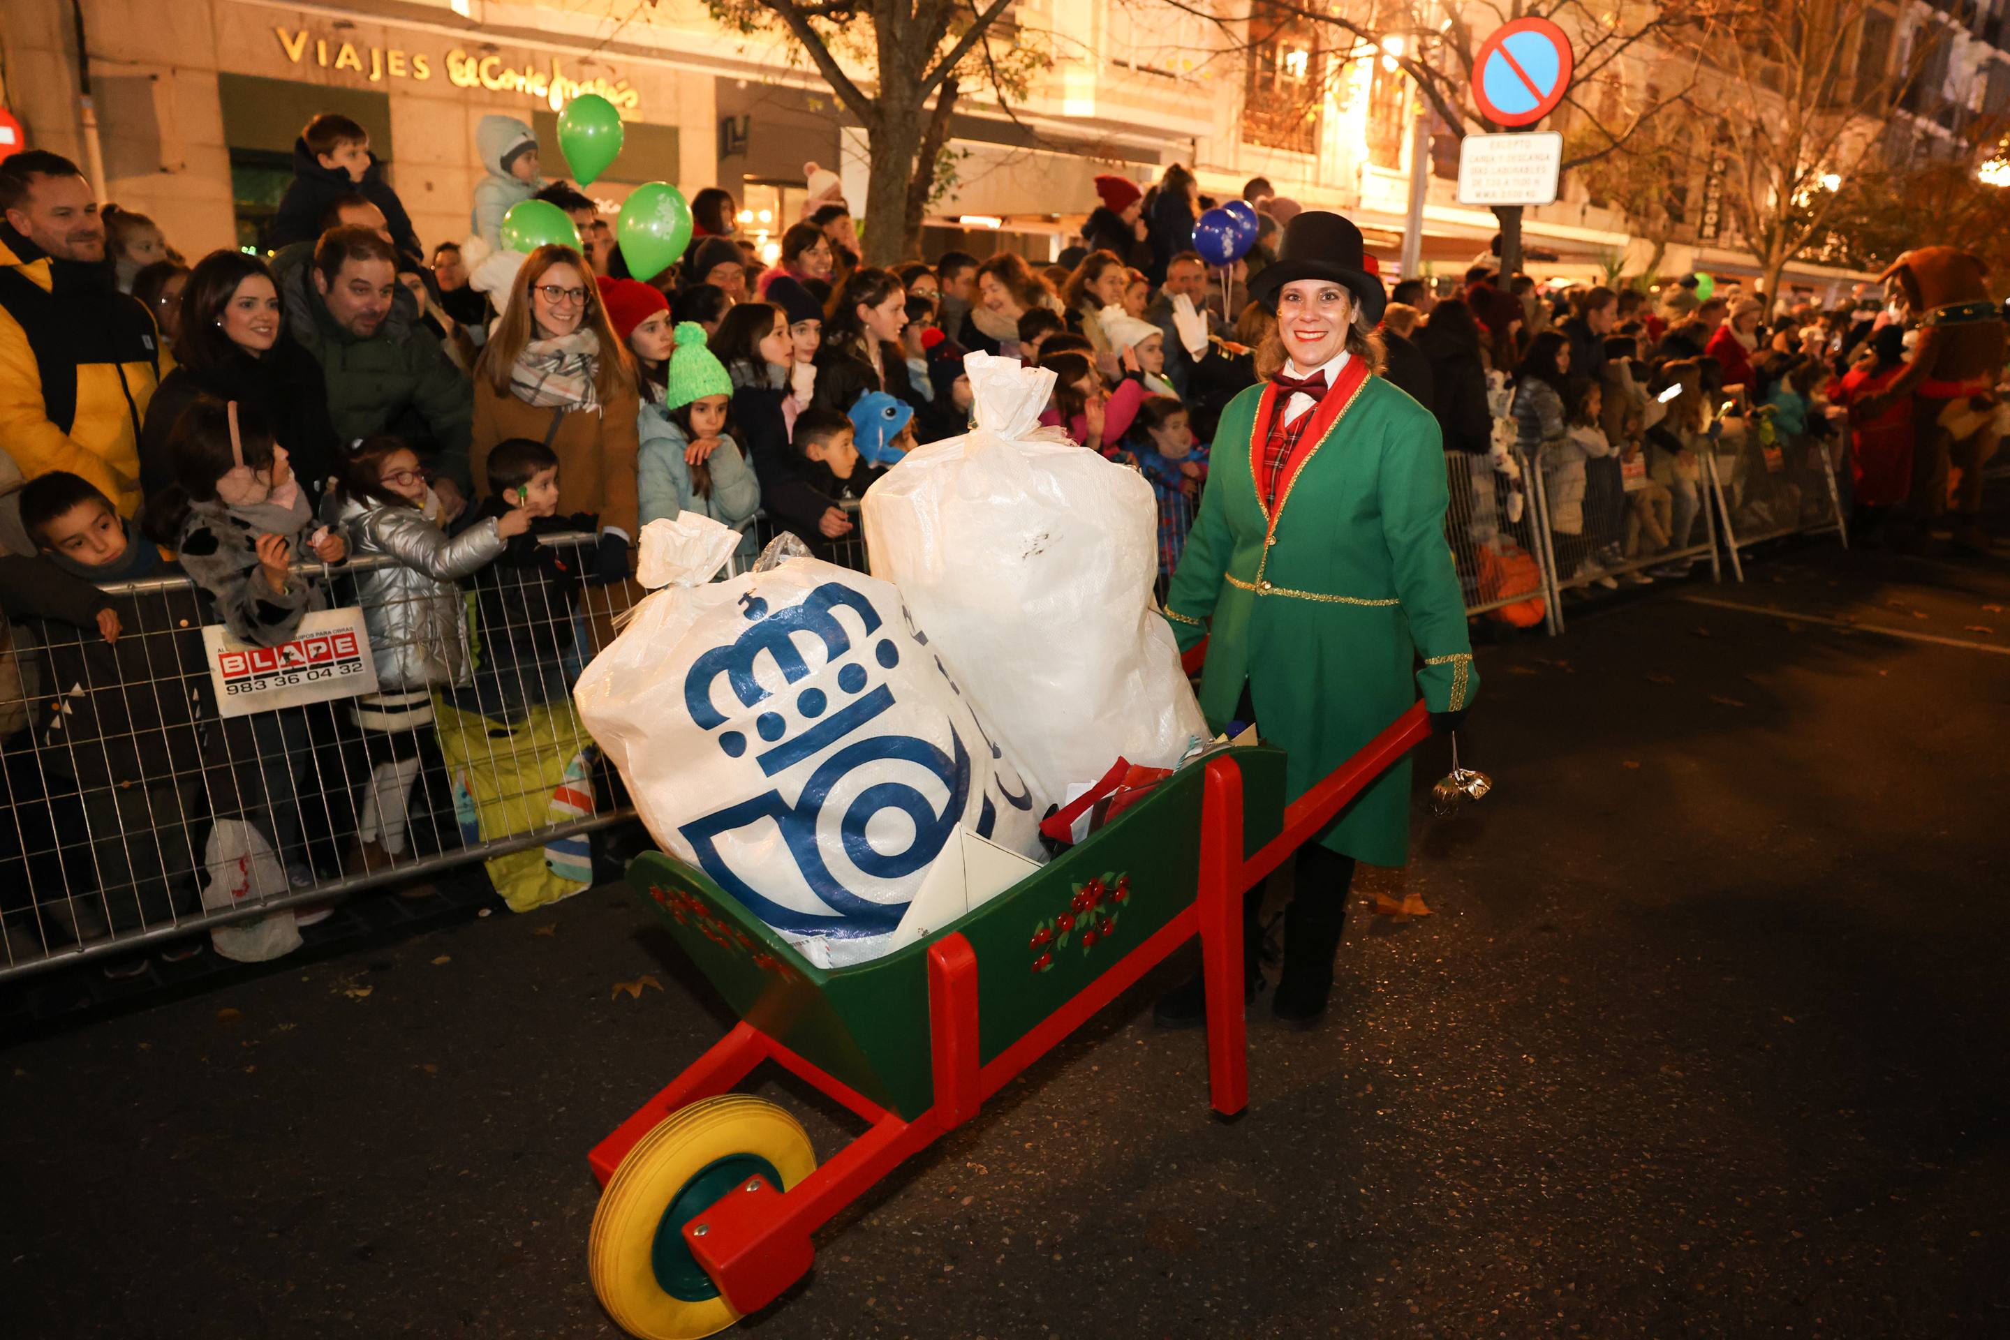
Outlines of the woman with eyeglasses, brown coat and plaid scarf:
[[511,438],[559,458],[559,514],[593,512],[595,583],[627,577],[637,536],[635,364],[607,323],[593,271],[571,247],[539,247],[517,271],[502,319],[474,364],[474,490],[488,494],[488,452]]

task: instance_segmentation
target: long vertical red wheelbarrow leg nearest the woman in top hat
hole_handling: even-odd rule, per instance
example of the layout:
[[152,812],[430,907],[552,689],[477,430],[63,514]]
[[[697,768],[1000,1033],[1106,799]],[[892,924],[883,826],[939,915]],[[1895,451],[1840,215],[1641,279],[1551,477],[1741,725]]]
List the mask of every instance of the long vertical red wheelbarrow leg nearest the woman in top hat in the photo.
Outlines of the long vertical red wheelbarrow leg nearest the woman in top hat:
[[1242,773],[1208,763],[1200,806],[1200,970],[1208,986],[1208,1097],[1224,1117],[1250,1101],[1248,1019],[1242,1004]]

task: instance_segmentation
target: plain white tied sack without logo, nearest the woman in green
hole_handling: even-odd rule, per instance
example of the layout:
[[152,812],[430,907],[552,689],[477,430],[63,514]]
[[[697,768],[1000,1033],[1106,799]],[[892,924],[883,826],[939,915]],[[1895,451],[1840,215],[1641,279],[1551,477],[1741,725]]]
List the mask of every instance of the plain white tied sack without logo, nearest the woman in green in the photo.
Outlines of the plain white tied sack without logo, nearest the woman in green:
[[900,589],[1041,812],[1118,757],[1172,767],[1208,727],[1154,611],[1158,504],[1132,468],[1039,428],[1053,374],[971,354],[977,428],[864,496]]

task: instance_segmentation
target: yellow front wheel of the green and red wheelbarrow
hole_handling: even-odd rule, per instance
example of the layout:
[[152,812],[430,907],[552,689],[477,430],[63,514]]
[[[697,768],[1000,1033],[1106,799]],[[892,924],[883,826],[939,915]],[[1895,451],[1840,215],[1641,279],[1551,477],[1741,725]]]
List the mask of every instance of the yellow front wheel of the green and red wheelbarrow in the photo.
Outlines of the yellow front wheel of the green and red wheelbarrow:
[[816,1155],[802,1125],[730,1093],[673,1111],[629,1149],[601,1191],[587,1240],[593,1292],[637,1340],[697,1340],[740,1314],[683,1244],[683,1225],[754,1175],[788,1189]]

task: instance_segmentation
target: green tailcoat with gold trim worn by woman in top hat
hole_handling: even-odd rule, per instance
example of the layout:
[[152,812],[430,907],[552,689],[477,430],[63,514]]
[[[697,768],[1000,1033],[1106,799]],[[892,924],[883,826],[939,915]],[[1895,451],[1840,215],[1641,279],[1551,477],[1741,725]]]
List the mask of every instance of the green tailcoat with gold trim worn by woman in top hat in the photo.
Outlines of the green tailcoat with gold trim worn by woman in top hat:
[[[1288,480],[1272,526],[1250,472],[1262,390],[1250,386],[1222,412],[1166,615],[1182,651],[1210,639],[1200,687],[1208,721],[1224,727],[1246,683],[1264,739],[1290,751],[1286,784],[1296,800],[1419,689],[1431,711],[1457,711],[1479,675],[1445,544],[1445,452],[1431,412],[1371,376]],[[1363,792],[1321,842],[1401,866],[1409,759]]]

